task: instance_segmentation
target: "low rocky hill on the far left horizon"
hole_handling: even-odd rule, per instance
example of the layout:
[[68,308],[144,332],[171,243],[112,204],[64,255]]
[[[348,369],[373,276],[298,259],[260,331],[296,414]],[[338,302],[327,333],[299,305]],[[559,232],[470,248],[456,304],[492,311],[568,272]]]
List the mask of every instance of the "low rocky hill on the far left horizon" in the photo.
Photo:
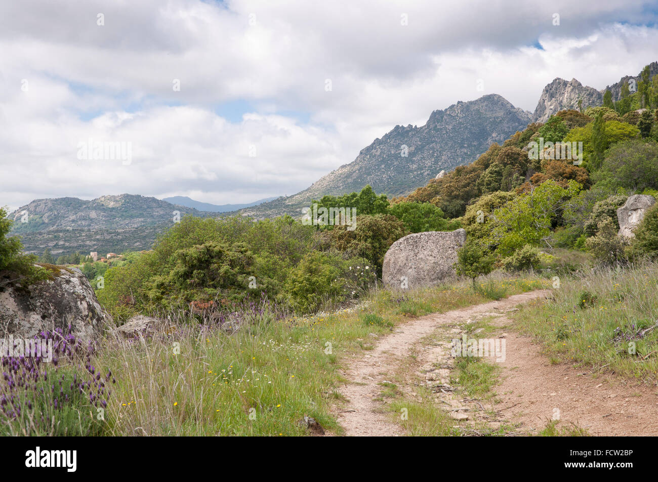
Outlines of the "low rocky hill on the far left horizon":
[[[26,253],[121,253],[150,249],[158,233],[180,216],[215,216],[155,197],[121,194],[92,201],[76,197],[36,199],[9,214],[12,235],[19,235]],[[28,222],[21,222],[23,213]]]

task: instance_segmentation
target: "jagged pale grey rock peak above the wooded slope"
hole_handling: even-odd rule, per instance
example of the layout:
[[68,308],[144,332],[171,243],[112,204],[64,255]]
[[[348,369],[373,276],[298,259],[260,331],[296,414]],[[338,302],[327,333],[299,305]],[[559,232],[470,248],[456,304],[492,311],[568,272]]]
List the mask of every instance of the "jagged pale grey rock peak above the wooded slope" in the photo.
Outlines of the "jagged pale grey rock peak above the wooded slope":
[[582,85],[576,79],[567,82],[557,78],[544,87],[532,122],[546,122],[550,116],[565,108],[578,110],[578,99],[582,99],[583,110],[603,104],[603,94],[594,87]]

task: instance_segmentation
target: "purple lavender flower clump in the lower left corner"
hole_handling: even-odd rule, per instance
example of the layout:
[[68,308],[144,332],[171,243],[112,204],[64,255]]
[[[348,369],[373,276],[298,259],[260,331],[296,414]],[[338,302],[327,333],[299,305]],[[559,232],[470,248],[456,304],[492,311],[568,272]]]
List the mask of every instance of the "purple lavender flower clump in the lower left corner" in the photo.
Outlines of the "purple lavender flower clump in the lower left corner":
[[[104,376],[91,364],[91,356],[96,347],[89,341],[85,346],[68,331],[61,328],[55,331],[41,331],[36,340],[53,341],[52,366],[43,353],[36,356],[2,356],[2,379],[0,380],[1,414],[9,419],[20,418],[27,410],[63,410],[64,407],[77,408],[86,401],[103,408],[111,391],[109,383],[116,383],[112,373]],[[50,369],[50,374],[49,374]],[[48,423],[43,412],[42,423]],[[38,421],[38,419],[37,419]]]

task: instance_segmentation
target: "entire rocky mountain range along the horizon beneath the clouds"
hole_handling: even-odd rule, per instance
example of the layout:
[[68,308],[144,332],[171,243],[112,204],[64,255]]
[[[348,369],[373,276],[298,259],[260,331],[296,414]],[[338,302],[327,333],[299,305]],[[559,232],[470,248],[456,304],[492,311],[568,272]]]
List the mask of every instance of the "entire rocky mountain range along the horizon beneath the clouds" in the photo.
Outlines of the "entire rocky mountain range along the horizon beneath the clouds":
[[[649,72],[651,78],[658,74],[658,62],[649,64]],[[618,100],[622,85],[630,78],[624,76],[601,90],[582,85],[576,79],[556,78],[544,87],[534,113],[514,107],[496,94],[434,110],[424,126],[395,126],[362,149],[349,164],[288,197],[261,199],[246,205],[212,205],[183,196],[160,200],[129,194],[102,196],[92,201],[72,197],[37,199],[10,215],[15,221],[12,233],[22,237],[29,253],[40,254],[45,248],[53,254],[121,253],[149,249],[157,233],[172,226],[174,211],[180,212],[180,216],[299,217],[301,208],[313,199],[360,191],[367,184],[376,193],[405,195],[442,170],[447,172],[472,162],[492,143],[504,141],[529,122],[544,122],[559,110],[577,108],[578,99],[583,108],[601,105],[603,93],[609,89],[613,100]],[[25,212],[28,222],[21,222]]]

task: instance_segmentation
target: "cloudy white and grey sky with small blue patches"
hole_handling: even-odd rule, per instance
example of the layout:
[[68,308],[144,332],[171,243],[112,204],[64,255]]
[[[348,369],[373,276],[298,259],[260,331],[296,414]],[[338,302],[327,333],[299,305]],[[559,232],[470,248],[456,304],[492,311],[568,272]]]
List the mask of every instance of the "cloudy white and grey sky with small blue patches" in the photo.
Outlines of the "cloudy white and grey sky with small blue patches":
[[0,206],[292,195],[457,101],[534,111],[555,77],[638,74],[657,20],[655,0],[4,1]]

